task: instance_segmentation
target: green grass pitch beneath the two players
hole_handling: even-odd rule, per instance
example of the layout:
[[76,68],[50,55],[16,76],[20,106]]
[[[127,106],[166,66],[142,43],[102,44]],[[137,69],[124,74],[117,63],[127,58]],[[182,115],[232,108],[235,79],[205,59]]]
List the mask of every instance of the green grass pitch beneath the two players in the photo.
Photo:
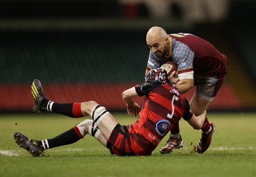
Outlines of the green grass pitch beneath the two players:
[[[135,121],[114,114],[122,125]],[[256,176],[256,113],[208,112],[216,124],[212,144],[204,154],[193,152],[200,130],[180,121],[184,148],[150,157],[116,157],[94,138],[47,150],[31,157],[17,146],[13,132],[46,139],[72,128],[82,119],[58,114],[0,114],[0,176]]]

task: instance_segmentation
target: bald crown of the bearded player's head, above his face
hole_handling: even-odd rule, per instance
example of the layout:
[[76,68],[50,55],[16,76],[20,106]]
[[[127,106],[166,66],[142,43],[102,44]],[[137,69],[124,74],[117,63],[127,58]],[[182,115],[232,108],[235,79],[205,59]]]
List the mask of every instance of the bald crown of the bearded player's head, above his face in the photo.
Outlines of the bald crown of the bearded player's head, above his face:
[[148,30],[146,41],[153,42],[156,40],[156,42],[161,42],[165,40],[168,37],[166,31],[162,27],[159,26],[153,26]]

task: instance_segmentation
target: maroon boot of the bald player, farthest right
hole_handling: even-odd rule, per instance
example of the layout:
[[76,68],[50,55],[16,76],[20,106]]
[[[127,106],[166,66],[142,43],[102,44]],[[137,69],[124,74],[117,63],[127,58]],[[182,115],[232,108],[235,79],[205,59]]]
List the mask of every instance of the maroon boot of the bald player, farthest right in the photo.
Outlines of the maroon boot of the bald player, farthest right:
[[209,132],[208,134],[202,133],[201,138],[197,144],[196,151],[198,153],[204,153],[211,145],[212,134],[215,131],[215,125],[214,125],[214,123],[210,123],[210,125],[212,127],[211,132]]

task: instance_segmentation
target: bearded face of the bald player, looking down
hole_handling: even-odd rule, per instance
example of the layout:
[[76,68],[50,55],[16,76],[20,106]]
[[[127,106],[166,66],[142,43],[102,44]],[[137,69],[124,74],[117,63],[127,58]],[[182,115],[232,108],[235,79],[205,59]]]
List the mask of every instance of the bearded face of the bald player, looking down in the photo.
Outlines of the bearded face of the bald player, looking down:
[[164,58],[164,54],[166,53],[165,40],[147,40],[147,45],[158,58]]

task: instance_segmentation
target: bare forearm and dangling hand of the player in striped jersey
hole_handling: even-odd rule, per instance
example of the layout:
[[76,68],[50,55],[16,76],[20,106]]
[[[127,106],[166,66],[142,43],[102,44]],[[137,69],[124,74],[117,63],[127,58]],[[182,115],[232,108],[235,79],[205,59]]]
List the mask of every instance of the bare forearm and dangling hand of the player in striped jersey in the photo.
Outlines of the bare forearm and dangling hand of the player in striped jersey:
[[136,92],[135,87],[129,88],[122,93],[123,100],[127,106],[127,113],[131,117],[133,116],[133,113],[134,113],[134,116],[136,117],[137,114],[139,114],[140,112],[140,105],[138,105],[134,101],[133,99],[134,96],[138,96],[138,93]]

